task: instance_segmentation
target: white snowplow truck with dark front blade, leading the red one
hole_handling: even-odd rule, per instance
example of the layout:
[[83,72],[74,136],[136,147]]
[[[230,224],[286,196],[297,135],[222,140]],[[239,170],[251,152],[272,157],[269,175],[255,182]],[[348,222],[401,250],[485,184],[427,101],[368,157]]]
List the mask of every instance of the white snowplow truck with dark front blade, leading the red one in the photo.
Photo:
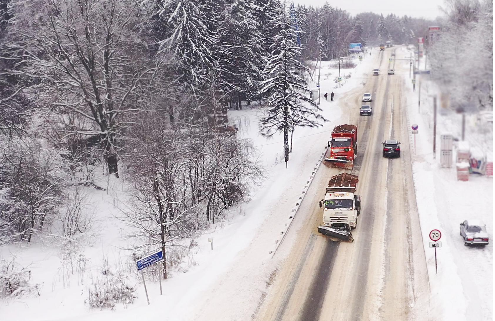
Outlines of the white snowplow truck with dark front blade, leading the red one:
[[351,229],[357,226],[361,211],[361,196],[355,195],[358,177],[348,173],[332,176],[320,201],[323,224],[318,232],[333,238],[352,242]]

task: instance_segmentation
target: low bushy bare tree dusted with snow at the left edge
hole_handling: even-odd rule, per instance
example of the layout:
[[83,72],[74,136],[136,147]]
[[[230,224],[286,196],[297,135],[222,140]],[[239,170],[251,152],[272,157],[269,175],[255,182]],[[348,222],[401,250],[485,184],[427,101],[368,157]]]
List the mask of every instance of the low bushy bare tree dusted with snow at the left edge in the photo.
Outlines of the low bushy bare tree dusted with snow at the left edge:
[[30,242],[61,202],[65,171],[58,153],[33,140],[10,141],[0,152],[0,237]]

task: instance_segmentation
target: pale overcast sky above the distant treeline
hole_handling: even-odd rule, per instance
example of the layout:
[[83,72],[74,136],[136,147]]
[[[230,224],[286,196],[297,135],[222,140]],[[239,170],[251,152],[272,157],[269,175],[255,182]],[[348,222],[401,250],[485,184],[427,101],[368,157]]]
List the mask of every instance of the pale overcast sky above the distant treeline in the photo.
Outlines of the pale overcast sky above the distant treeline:
[[[294,3],[312,6],[323,6],[326,0],[294,0]],[[287,2],[290,2],[288,0]],[[360,12],[383,13],[384,16],[394,13],[397,16],[408,15],[411,17],[435,19],[443,15],[439,6],[444,6],[444,0],[328,0],[333,7],[338,7],[349,12],[352,16]]]

